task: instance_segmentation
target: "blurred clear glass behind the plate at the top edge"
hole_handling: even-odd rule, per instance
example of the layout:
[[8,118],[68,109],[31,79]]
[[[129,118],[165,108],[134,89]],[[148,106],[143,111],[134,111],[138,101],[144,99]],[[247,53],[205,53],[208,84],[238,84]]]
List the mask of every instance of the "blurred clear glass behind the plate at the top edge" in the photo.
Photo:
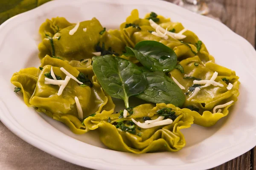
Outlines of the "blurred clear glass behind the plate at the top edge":
[[168,0],[178,6],[182,6],[198,14],[212,17],[225,23],[227,21],[227,11],[218,0]]

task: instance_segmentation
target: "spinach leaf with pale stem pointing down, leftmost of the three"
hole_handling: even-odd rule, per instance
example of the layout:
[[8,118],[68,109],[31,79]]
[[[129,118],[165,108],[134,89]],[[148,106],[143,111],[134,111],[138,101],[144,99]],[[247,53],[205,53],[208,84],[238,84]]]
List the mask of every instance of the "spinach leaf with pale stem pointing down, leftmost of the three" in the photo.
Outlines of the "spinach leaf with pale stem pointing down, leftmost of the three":
[[147,87],[141,68],[120,57],[93,57],[93,71],[106,93],[123,99],[126,108],[129,108],[128,98],[142,93]]

